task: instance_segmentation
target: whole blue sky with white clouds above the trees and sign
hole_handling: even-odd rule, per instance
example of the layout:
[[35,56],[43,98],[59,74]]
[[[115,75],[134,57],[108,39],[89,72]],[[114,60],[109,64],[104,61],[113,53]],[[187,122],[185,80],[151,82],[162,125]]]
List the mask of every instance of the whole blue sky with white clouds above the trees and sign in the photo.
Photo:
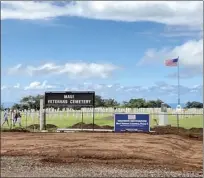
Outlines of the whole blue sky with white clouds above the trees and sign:
[[177,56],[181,102],[202,100],[202,2],[4,1],[1,14],[2,102],[94,90],[176,103],[177,68],[164,60]]

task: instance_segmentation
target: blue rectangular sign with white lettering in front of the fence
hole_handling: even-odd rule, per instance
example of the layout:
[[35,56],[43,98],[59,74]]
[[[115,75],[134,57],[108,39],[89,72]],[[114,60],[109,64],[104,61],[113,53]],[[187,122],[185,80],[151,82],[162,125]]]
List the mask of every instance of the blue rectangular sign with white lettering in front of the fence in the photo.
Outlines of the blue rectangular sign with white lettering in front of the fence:
[[149,132],[149,114],[115,114],[115,132]]

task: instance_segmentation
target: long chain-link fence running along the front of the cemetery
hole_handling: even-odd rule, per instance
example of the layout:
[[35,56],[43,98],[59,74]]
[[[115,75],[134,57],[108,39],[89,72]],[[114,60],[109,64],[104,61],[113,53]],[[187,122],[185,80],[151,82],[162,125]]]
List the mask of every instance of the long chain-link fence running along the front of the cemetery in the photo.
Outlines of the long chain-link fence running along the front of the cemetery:
[[[128,113],[131,114],[131,113]],[[168,125],[178,128],[203,128],[202,114],[177,114],[166,113]],[[1,128],[13,129],[24,128],[36,132],[40,128],[39,111],[21,112],[21,120],[14,122],[12,114],[9,113],[8,123],[4,121],[1,113]],[[150,113],[150,126],[154,128],[159,125],[161,113]],[[2,125],[3,124],[3,125]],[[83,111],[49,111],[46,112],[46,129],[55,131],[58,128],[78,128],[78,129],[113,129],[113,112],[83,112]]]

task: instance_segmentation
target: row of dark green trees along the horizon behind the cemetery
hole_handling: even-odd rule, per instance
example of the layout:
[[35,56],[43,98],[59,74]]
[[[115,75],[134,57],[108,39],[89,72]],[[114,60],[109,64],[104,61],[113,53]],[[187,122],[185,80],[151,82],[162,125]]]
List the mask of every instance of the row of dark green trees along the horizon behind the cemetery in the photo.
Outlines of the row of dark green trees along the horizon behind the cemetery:
[[[18,110],[27,110],[27,109],[40,109],[40,99],[43,99],[43,95],[37,96],[25,96],[23,97],[19,103],[15,103],[12,106],[12,109]],[[115,99],[103,99],[101,96],[95,96],[95,107],[125,107],[125,108],[160,108],[161,104],[164,103],[162,100],[145,100],[143,98],[130,99],[129,101],[123,101],[119,103]],[[166,103],[165,103],[166,104]],[[166,104],[168,108],[170,106]],[[200,102],[187,102],[185,108],[203,108],[203,103]],[[1,109],[3,109],[3,105],[1,105]],[[74,109],[80,109],[79,107],[75,107]]]

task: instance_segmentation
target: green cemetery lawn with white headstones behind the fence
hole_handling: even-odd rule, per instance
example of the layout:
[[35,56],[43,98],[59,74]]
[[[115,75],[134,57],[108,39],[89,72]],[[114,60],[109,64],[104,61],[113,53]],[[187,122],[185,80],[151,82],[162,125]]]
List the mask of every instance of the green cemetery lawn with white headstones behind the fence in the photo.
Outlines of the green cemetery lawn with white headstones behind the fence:
[[[150,115],[151,116],[151,127],[156,126],[156,121],[159,122],[158,120],[158,115]],[[177,126],[177,117],[169,115],[168,116],[168,121],[169,124],[172,126]],[[90,114],[84,114],[83,119],[82,119],[82,114],[77,113],[77,114],[69,114],[67,113],[61,113],[59,114],[47,114],[46,115],[46,124],[53,124],[56,125],[58,128],[67,128],[70,127],[74,124],[77,124],[79,122],[84,122],[86,124],[88,123],[93,123],[93,118]],[[113,120],[113,114],[95,114],[95,119],[94,119],[95,124],[104,126],[104,125],[114,125],[114,120]],[[10,123],[10,122],[9,122]],[[21,121],[22,127],[28,127],[33,124],[39,124],[39,118],[37,115],[30,116],[30,115],[24,115],[22,114],[22,121]],[[18,126],[18,124],[16,125]],[[202,115],[186,115],[181,117],[179,119],[179,126],[184,127],[184,128],[203,128],[203,117]],[[3,128],[8,128],[7,123],[4,124]]]

